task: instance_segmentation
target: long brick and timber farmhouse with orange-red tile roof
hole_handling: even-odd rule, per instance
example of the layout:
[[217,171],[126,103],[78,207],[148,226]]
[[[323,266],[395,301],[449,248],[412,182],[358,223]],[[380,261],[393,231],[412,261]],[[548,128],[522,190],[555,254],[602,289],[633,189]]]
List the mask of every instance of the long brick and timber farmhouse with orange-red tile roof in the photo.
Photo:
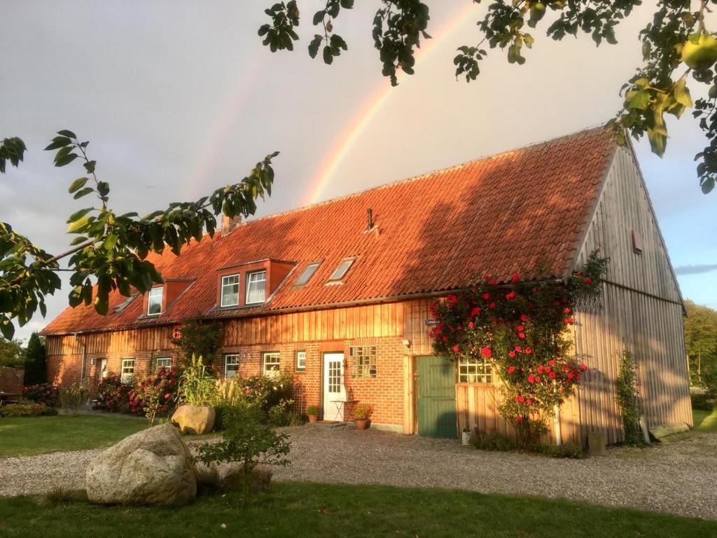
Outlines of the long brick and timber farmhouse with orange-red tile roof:
[[684,307],[630,146],[594,128],[250,222],[151,258],[166,282],[114,293],[110,313],[68,308],[47,335],[49,379],[104,370],[125,379],[168,366],[173,331],[201,313],[224,324],[224,377],[295,372],[300,407],[350,420],[369,402],[376,428],[455,437],[505,433],[498,376],[478,359],[435,357],[429,305],[490,272],[548,265],[556,278],[589,253],[610,258],[599,305],[576,312],[575,352],[589,369],[551,438],[622,439],[614,400],[623,342],[637,361],[650,427],[692,421]]

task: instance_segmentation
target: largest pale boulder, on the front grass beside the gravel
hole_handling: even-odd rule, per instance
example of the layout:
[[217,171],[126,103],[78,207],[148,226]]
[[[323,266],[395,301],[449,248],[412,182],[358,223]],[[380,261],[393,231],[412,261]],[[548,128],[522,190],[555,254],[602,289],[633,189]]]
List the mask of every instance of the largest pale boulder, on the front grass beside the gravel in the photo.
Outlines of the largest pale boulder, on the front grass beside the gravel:
[[148,428],[104,450],[85,475],[99,504],[188,504],[196,496],[189,449],[174,426]]

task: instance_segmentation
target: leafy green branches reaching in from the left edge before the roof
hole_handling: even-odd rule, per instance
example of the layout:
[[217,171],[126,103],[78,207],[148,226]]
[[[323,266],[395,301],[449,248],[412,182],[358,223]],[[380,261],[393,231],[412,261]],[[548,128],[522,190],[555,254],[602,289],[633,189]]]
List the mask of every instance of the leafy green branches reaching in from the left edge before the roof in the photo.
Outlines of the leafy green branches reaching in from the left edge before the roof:
[[[14,139],[6,139],[0,147],[16,165],[22,161],[24,144],[7,140]],[[95,199],[67,219],[67,233],[75,235],[70,250],[50,255],[8,223],[0,222],[0,332],[8,339],[14,334],[11,319],[16,318],[22,326],[38,309],[45,315],[44,297],[60,289],[57,271],[62,259],[67,258],[67,269],[72,273],[70,306],[93,304],[103,315],[108,313],[111,291],[118,290],[129,297],[134,290],[145,293],[153,284],[162,283],[161,275],[146,260],[147,255],[161,254],[167,247],[179,255],[191,240],[201,241],[205,230],[213,236],[217,214],[254,214],[256,199],[271,194],[271,164],[278,155],[267,155],[238,183],[217,189],[196,202],[172,202],[167,209],[140,217],[136,212],[116,214],[110,209],[110,184],[98,179],[97,161],[87,155],[88,144],[80,142],[72,131],[62,130],[45,148],[55,152],[54,166],[82,161],[83,176],[72,181],[68,192],[74,199],[90,195]],[[0,162],[0,171],[4,171],[4,161]]]

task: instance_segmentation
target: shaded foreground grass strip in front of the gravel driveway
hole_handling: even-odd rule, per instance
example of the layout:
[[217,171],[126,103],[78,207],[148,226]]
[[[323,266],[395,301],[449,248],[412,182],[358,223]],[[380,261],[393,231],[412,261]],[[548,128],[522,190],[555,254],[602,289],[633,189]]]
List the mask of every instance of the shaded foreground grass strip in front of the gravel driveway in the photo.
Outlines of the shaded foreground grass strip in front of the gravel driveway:
[[11,497],[0,499],[0,535],[622,538],[717,533],[717,522],[701,519],[446,489],[282,482],[247,509],[237,509],[237,503],[235,494],[200,497],[181,509]]

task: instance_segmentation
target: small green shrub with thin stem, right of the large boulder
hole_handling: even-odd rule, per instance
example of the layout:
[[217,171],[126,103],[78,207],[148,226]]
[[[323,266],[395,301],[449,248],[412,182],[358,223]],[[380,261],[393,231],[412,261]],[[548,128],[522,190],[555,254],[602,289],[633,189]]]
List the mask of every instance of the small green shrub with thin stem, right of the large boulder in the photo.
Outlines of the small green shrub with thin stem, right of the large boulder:
[[249,405],[227,407],[224,435],[219,443],[196,447],[196,459],[206,466],[218,463],[242,464],[242,505],[249,500],[252,471],[257,465],[288,465],[288,435],[262,425],[260,410]]

